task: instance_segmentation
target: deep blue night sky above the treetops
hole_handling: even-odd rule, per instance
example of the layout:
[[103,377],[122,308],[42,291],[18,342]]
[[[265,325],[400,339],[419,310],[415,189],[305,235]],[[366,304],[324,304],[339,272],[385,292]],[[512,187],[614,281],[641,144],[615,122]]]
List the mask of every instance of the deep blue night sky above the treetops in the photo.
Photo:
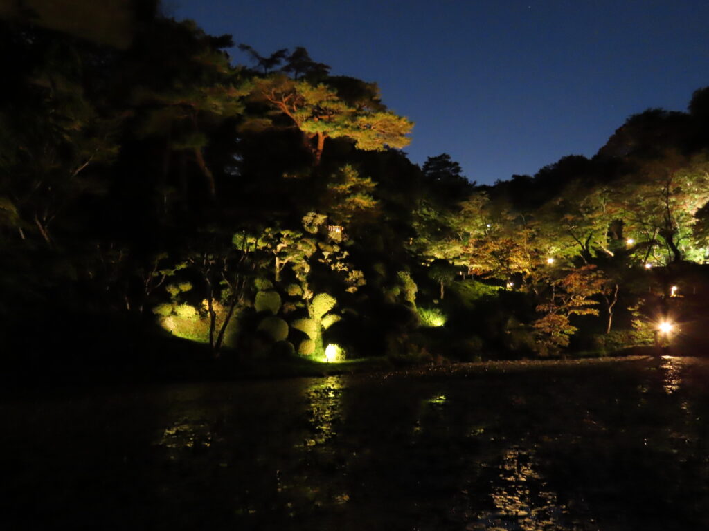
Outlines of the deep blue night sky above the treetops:
[[[262,55],[304,46],[415,122],[412,161],[479,183],[592,156],[633,113],[709,85],[707,0],[165,0]],[[235,62],[248,59],[233,50]]]

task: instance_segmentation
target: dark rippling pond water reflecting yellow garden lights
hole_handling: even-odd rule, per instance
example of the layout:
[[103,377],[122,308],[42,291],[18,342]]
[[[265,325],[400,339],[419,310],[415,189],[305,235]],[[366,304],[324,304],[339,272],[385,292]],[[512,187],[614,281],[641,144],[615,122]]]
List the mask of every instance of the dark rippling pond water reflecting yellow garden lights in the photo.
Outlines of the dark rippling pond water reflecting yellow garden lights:
[[709,363],[6,396],[2,529],[705,530]]

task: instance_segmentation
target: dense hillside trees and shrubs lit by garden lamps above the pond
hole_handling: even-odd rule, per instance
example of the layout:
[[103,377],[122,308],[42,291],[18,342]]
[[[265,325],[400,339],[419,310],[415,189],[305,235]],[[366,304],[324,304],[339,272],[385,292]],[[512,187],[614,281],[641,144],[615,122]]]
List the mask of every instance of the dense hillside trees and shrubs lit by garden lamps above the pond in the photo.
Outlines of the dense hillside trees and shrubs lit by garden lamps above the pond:
[[13,356],[130,358],[161,329],[215,356],[599,352],[704,289],[709,89],[592,159],[475,185],[447,154],[408,161],[376,84],[303,48],[235,66],[230,36],[141,17],[125,46],[0,23]]

